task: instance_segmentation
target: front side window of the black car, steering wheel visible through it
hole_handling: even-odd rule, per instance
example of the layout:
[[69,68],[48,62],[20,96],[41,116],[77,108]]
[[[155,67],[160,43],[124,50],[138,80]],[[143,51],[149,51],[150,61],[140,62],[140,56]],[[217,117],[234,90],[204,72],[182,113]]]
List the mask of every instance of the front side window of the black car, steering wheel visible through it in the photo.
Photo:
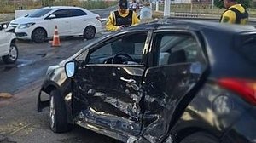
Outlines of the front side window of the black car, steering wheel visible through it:
[[146,39],[147,33],[143,32],[110,40],[92,49],[88,64],[142,64]]

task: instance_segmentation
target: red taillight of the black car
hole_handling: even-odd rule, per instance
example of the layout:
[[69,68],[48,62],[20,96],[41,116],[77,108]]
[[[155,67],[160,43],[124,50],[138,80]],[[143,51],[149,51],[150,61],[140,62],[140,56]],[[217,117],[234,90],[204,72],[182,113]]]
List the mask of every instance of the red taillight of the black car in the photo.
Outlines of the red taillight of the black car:
[[221,78],[218,79],[218,84],[256,105],[256,81],[241,78]]

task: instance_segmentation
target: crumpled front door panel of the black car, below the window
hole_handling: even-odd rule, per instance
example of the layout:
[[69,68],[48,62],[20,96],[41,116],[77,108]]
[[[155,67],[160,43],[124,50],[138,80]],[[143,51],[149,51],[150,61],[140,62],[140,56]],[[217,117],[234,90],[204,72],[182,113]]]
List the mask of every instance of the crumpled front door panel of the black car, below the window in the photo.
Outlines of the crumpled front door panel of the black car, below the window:
[[86,66],[79,72],[76,120],[137,136],[142,125],[143,67]]

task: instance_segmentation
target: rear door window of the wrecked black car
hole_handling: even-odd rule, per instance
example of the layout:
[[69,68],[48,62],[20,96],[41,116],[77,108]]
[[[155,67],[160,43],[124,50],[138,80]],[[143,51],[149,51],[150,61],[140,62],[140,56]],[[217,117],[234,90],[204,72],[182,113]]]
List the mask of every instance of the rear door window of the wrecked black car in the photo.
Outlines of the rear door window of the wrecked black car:
[[201,58],[200,44],[190,34],[158,34],[157,65],[196,62]]

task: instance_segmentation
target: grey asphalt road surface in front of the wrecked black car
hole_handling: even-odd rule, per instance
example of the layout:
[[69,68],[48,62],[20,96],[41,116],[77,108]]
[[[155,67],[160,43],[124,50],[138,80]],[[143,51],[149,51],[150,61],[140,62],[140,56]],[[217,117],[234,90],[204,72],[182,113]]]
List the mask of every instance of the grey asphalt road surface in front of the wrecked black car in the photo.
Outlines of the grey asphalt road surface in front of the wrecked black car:
[[[99,37],[99,36],[97,36]],[[61,47],[50,43],[35,44],[19,41],[20,58],[15,65],[4,65],[0,61],[0,142],[18,143],[110,143],[106,136],[95,134],[77,126],[67,134],[54,134],[49,129],[48,109],[36,112],[39,88],[48,66],[84,48],[90,41],[81,37],[61,39]]]

